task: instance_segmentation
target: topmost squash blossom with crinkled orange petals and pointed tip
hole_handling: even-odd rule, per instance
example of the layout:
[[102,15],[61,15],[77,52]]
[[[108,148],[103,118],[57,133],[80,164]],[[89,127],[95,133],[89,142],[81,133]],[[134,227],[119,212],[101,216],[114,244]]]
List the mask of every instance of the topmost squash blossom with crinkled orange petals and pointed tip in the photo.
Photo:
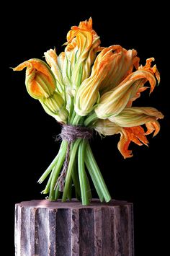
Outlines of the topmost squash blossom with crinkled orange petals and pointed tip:
[[89,77],[100,40],[92,28],[92,19],[80,22],[79,27],[73,26],[67,34],[63,79],[70,84],[72,94],[82,81]]

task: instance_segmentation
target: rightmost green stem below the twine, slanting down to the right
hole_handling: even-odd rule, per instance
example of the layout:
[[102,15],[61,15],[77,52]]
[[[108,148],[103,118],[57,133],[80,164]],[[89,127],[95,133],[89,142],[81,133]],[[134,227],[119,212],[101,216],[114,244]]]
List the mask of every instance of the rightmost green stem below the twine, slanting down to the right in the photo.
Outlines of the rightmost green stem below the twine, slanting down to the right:
[[93,172],[93,174],[94,174],[94,176],[95,176],[95,178],[97,180],[97,183],[98,183],[98,185],[100,187],[100,190],[102,191],[102,194],[104,196],[104,200],[106,202],[109,202],[109,200],[111,200],[112,198],[109,195],[109,191],[107,189],[107,185],[104,182],[104,179],[102,177],[102,173],[100,172],[99,167],[97,165],[97,162],[96,162],[96,160],[94,158],[94,155],[93,155],[93,153],[91,151],[91,147],[89,145],[89,142],[87,142],[87,144],[86,144],[86,158],[89,161],[89,164],[91,166],[91,171]]

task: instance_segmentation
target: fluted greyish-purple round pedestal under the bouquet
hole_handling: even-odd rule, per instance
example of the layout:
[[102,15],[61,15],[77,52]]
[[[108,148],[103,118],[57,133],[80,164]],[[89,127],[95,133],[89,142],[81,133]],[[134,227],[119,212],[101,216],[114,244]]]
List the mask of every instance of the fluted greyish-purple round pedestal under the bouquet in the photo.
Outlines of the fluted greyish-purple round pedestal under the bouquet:
[[16,204],[16,256],[133,256],[133,204],[90,206],[32,200]]

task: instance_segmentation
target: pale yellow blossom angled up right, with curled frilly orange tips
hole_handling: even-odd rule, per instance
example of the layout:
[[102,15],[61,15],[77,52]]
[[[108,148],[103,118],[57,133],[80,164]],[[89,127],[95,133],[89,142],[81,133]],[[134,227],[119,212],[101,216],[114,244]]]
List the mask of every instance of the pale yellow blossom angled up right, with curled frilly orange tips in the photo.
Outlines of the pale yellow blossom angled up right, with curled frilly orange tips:
[[146,81],[151,84],[151,92],[156,86],[156,77],[159,81],[158,71],[156,66],[151,68],[151,61],[148,59],[146,66],[141,67],[138,71],[133,72],[126,77],[117,87],[102,94],[99,105],[95,108],[98,118],[106,119],[118,115],[126,106],[131,105],[132,101],[138,97],[143,91],[143,85]]

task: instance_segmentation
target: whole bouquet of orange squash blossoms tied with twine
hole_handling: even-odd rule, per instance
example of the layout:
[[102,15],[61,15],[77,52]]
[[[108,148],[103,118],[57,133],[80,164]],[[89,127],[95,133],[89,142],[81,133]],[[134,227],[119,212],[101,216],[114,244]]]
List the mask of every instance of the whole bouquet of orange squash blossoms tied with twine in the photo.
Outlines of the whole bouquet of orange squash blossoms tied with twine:
[[[61,124],[57,137],[61,147],[38,182],[49,175],[42,191],[49,194],[49,200],[71,200],[74,187],[76,198],[88,205],[91,178],[100,201],[109,202],[111,197],[89,139],[94,130],[104,136],[120,133],[118,149],[124,158],[133,156],[128,149],[131,141],[148,145],[146,135],[156,136],[158,119],[164,116],[156,108],[132,105],[148,89],[146,81],[153,92],[160,81],[158,69],[152,66],[154,58],[148,58],[145,66],[139,65],[134,49],[101,47],[91,18],[71,27],[64,45],[59,56],[55,49],[44,53],[47,63],[32,58],[13,69],[26,68],[27,92]],[[141,125],[146,125],[146,130]]]

